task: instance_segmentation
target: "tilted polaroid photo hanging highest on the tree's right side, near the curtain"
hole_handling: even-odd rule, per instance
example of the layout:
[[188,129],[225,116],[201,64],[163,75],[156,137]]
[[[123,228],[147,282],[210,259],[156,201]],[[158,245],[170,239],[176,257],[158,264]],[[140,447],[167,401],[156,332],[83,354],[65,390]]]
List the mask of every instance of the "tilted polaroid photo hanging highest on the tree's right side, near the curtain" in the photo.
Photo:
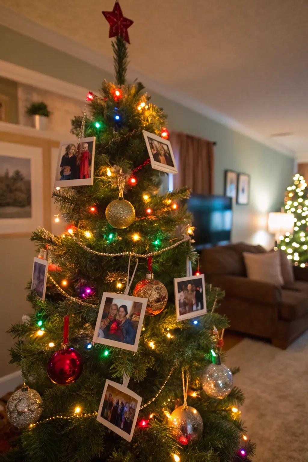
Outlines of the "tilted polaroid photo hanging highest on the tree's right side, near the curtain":
[[171,143],[162,137],[142,130],[145,144],[151,159],[152,169],[166,173],[177,173]]

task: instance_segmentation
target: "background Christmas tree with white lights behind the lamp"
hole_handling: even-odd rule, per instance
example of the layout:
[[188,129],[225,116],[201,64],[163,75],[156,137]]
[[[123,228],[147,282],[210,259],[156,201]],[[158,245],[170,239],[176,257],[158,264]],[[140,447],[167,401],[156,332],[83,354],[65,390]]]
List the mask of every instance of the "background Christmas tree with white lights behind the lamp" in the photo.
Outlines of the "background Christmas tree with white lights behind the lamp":
[[307,183],[299,173],[293,177],[294,183],[288,186],[284,197],[286,213],[294,215],[294,230],[291,234],[279,237],[277,246],[288,254],[294,265],[305,267],[308,263],[308,191]]

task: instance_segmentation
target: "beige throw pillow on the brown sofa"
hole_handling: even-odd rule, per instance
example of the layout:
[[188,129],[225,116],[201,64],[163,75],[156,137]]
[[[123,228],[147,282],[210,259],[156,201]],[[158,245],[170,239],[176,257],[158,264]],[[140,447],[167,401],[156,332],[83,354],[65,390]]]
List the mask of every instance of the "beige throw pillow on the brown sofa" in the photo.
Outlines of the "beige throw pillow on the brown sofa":
[[251,254],[243,252],[248,279],[283,286],[279,252]]

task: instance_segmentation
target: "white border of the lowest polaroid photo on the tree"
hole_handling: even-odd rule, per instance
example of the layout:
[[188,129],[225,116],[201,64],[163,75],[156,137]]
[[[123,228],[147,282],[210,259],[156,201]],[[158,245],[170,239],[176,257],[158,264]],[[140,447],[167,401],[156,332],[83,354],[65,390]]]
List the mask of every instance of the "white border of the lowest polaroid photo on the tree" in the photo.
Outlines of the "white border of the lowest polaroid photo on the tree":
[[[107,420],[107,419],[105,419],[104,417],[101,416],[102,409],[103,409],[104,398],[105,398],[105,395],[107,393],[108,385],[111,385],[112,387],[117,388],[119,391],[121,391],[122,393],[125,393],[126,395],[130,395],[132,398],[134,398],[137,401],[136,412],[135,412],[135,416],[134,416],[134,419],[133,419],[132,430],[131,430],[130,433],[124,432],[123,430],[121,430],[121,428],[115,426],[114,424],[111,424],[109,422],[109,420]],[[107,428],[109,428],[110,430],[112,430],[113,432],[117,433],[122,438],[126,439],[127,441],[132,441],[133,433],[135,431],[135,427],[136,427],[136,424],[137,424],[137,419],[138,419],[138,415],[139,415],[141,401],[142,401],[142,397],[137,395],[136,393],[134,393],[129,388],[124,387],[120,383],[112,382],[112,380],[106,379],[104,390],[103,390],[103,395],[102,395],[101,402],[99,404],[99,408],[98,408],[98,411],[97,411],[97,421],[100,422],[101,424],[103,424],[104,426],[106,426]]]

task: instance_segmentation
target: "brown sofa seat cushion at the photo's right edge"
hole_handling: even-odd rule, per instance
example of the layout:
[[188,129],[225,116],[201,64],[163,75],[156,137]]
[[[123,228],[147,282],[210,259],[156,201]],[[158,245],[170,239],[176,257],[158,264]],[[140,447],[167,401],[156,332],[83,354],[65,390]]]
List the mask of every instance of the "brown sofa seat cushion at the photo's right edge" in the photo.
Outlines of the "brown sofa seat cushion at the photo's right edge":
[[281,297],[282,301],[278,306],[280,319],[290,322],[308,313],[308,297],[306,293],[283,289]]

